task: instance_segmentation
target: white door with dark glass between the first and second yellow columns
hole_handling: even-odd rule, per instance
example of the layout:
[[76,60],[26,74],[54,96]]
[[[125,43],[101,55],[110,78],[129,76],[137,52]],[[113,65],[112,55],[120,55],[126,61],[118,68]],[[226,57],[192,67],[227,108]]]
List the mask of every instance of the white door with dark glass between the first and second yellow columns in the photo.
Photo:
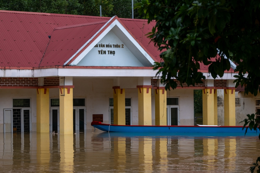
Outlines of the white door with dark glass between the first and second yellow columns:
[[[59,132],[60,131],[60,108],[50,107],[50,131]],[[56,132],[57,131],[57,132]]]

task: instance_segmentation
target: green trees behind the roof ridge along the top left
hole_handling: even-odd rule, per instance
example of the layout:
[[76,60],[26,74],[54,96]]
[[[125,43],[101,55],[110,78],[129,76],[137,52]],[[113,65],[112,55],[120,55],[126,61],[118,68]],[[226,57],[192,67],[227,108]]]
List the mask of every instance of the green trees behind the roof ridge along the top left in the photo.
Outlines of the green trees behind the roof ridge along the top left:
[[[140,0],[134,0],[134,3]],[[0,0],[0,10],[132,18],[132,0]],[[134,10],[134,18],[142,18]]]

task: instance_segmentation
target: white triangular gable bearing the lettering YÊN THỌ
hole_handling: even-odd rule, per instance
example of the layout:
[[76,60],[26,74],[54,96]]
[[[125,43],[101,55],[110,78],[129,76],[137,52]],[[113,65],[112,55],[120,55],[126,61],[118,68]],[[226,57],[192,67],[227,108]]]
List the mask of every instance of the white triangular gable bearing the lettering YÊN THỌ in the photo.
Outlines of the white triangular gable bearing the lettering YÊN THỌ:
[[70,66],[130,67],[151,67],[153,64],[154,59],[124,27],[117,16],[112,17],[64,63]]

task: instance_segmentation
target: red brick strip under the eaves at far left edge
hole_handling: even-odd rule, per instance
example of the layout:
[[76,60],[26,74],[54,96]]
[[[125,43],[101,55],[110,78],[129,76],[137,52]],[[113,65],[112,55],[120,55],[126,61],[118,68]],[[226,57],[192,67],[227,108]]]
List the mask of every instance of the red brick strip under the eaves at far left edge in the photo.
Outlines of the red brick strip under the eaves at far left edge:
[[38,78],[0,77],[0,86],[38,86]]

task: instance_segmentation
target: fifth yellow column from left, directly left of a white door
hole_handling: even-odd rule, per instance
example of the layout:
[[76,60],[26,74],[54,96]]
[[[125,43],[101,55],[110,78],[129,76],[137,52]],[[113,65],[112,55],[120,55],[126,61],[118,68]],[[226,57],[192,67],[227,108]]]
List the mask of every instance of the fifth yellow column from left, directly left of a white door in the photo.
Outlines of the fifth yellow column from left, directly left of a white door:
[[165,87],[155,88],[155,125],[167,125]]

